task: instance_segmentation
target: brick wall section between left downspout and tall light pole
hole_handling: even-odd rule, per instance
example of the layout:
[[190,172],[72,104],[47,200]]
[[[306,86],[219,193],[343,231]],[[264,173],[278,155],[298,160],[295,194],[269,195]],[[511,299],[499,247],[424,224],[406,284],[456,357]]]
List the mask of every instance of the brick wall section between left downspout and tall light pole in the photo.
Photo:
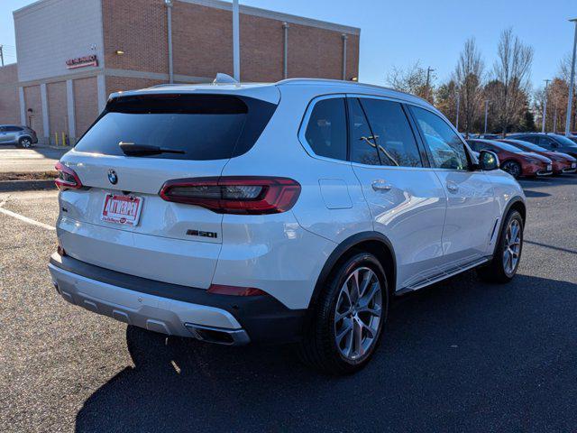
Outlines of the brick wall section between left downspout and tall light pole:
[[[233,14],[201,5],[175,2],[172,51],[175,74],[233,75]],[[241,68],[242,69],[242,68]]]

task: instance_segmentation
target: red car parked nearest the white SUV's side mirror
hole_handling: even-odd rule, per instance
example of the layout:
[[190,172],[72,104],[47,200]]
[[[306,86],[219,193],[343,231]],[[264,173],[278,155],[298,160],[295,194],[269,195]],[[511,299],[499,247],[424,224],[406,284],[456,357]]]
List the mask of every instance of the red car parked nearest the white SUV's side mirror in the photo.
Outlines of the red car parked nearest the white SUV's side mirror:
[[514,178],[520,176],[549,176],[553,174],[553,161],[533,152],[525,152],[508,143],[495,140],[467,140],[475,152],[491,151],[497,153],[501,170]]

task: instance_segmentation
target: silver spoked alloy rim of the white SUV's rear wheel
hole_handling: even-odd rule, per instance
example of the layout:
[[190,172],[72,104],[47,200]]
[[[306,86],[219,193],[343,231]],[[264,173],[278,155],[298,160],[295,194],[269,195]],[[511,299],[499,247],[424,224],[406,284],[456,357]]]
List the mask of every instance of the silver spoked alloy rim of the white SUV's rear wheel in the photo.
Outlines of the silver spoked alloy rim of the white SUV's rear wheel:
[[357,361],[379,337],[382,290],[375,272],[367,267],[353,270],[344,281],[334,312],[334,338],[341,355]]

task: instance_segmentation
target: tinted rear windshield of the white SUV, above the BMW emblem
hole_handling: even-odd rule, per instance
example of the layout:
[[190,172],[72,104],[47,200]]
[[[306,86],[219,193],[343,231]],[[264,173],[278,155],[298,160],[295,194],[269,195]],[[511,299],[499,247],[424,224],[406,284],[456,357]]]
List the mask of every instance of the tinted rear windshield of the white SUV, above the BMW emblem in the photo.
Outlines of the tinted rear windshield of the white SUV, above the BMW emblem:
[[139,158],[222,160],[248,152],[276,105],[229,95],[144,95],[113,99],[75,146],[80,152],[124,155],[118,143],[183,153]]

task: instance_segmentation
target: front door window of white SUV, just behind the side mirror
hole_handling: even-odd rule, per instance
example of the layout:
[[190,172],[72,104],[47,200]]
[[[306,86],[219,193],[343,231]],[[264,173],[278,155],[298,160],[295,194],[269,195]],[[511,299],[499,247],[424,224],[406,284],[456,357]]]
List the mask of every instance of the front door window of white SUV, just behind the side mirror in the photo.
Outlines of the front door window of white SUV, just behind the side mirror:
[[465,170],[467,155],[461,138],[438,115],[417,106],[412,106],[411,109],[433,156],[433,166]]

